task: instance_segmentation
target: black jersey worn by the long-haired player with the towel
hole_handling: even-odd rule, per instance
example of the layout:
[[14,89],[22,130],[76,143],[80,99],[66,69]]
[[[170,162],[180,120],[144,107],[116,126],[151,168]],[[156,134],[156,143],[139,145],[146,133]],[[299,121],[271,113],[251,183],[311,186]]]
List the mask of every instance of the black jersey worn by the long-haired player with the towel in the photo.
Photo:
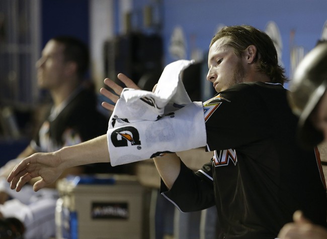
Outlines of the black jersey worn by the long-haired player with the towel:
[[296,141],[297,117],[280,84],[241,83],[204,103],[211,162],[194,173],[183,163],[171,190],[182,211],[216,205],[219,238],[273,239],[302,210],[325,226],[327,199],[317,150]]

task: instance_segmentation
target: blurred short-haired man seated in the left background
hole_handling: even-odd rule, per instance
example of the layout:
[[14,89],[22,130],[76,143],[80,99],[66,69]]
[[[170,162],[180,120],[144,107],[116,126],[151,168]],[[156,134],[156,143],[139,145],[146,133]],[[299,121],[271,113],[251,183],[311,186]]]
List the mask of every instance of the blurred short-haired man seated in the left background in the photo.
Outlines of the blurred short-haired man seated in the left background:
[[[92,82],[85,79],[88,66],[87,46],[70,36],[49,40],[41,58],[36,62],[38,85],[49,91],[52,107],[27,148],[17,159],[0,168],[0,217],[2,215],[4,220],[9,218],[8,221],[15,221],[16,224],[19,223],[13,218],[18,219],[22,223],[18,226],[21,228],[18,231],[22,232],[25,227],[25,239],[48,239],[54,236],[58,193],[55,183],[40,193],[35,193],[32,189],[34,181],[24,187],[23,193],[14,193],[6,182],[14,165],[36,152],[53,152],[64,146],[93,139],[107,131],[108,121],[97,110],[97,96]],[[73,167],[67,169],[62,177],[109,172],[110,167],[110,164],[105,167],[99,164]],[[3,226],[3,230],[8,228]]]

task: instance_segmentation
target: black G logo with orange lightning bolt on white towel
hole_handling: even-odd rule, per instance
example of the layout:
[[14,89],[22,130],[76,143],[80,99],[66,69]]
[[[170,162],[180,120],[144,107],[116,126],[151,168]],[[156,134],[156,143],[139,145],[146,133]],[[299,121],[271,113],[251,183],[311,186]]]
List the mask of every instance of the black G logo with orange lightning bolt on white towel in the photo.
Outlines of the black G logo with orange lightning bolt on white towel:
[[131,126],[122,127],[112,132],[111,142],[115,147],[141,145],[138,131]]

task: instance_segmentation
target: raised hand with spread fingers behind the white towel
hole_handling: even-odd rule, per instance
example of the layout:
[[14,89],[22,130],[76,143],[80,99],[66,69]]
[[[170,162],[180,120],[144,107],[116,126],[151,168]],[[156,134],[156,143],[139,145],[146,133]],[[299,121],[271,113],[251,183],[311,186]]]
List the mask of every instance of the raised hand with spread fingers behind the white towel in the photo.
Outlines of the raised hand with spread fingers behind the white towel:
[[[128,88],[132,88],[132,89],[140,89],[130,78],[128,78],[126,75],[119,73],[118,74],[118,79],[120,81],[122,81],[126,87]],[[101,88],[100,89],[100,93],[107,97],[108,99],[110,99],[111,101],[113,101],[114,103],[117,103],[117,100],[119,99],[119,96],[121,94],[121,92],[123,91],[123,87],[121,87],[120,85],[118,85],[117,83],[115,83],[113,80],[106,78],[104,80],[105,84],[111,88],[116,94],[110,92],[109,90],[107,90],[106,88]],[[102,102],[102,106],[110,111],[114,110],[114,105],[110,104],[108,102]]]

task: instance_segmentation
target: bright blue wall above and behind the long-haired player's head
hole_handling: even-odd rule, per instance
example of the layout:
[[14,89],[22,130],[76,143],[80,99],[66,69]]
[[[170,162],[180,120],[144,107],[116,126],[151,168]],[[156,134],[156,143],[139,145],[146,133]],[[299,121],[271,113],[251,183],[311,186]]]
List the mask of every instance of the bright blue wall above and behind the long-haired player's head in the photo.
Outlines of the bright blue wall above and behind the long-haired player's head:
[[[134,2],[135,8],[146,4],[153,1]],[[281,34],[282,62],[288,76],[291,31],[295,31],[294,43],[309,51],[320,38],[327,20],[327,0],[163,0],[162,6],[166,64],[175,60],[168,47],[176,26],[184,30],[189,58],[192,35],[196,37],[196,47],[206,52],[219,24],[248,24],[265,30],[267,23],[273,21]]]

